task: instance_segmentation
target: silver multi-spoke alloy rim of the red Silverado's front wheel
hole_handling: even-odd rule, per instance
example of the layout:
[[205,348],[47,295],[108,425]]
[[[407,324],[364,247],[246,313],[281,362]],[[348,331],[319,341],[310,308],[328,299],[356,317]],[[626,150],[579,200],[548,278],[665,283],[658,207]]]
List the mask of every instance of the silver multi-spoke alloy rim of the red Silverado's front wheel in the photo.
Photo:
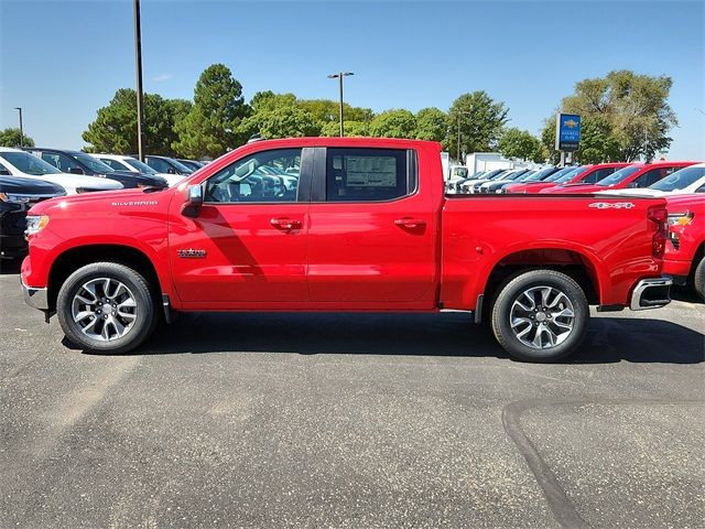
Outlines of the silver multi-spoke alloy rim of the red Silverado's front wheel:
[[110,278],[85,282],[72,302],[72,316],[89,338],[111,342],[128,334],[137,321],[137,301],[124,283]]

